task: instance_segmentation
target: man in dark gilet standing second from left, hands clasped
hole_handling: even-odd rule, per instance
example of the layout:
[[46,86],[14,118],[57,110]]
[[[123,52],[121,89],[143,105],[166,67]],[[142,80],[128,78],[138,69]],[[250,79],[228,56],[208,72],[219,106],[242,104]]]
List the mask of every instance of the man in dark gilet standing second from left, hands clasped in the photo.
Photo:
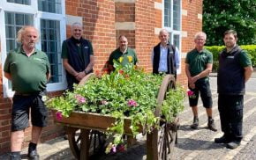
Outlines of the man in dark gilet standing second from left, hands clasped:
[[62,59],[66,70],[68,90],[73,91],[73,84],[93,72],[94,49],[89,40],[82,37],[83,27],[80,23],[72,24],[72,37],[64,40]]

